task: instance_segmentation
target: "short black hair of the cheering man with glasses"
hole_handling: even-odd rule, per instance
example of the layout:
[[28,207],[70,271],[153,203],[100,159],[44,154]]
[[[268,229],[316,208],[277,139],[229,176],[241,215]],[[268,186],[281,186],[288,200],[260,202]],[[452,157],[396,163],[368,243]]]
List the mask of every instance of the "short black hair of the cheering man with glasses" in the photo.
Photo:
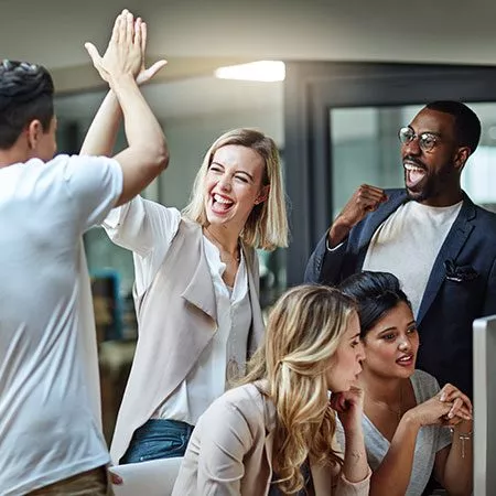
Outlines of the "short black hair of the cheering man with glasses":
[[460,147],[468,147],[471,154],[481,139],[481,121],[477,115],[461,101],[439,100],[425,106],[430,110],[450,114],[455,119],[455,136]]

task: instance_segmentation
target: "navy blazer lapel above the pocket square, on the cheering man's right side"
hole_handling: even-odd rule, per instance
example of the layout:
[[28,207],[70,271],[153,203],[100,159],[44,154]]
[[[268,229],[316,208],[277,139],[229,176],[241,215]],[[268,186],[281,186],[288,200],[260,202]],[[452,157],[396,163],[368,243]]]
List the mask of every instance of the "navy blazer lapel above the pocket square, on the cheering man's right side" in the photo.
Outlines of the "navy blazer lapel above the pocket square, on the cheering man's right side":
[[429,311],[435,295],[438,294],[441,284],[444,281],[445,268],[444,262],[448,259],[456,260],[460,250],[465,245],[472,229],[474,228],[471,220],[475,217],[475,206],[472,201],[464,194],[464,201],[462,209],[456,217],[453,226],[448,233],[446,239],[444,239],[441,250],[435,258],[434,265],[431,270],[431,274],[423,293],[422,302],[419,309],[419,315],[417,316],[417,323],[420,325],[422,319]]

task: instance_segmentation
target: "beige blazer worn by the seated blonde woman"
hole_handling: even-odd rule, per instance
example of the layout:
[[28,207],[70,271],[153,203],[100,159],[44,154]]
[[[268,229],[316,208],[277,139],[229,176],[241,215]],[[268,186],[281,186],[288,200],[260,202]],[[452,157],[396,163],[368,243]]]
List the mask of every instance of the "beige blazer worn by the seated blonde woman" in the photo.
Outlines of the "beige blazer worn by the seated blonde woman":
[[[224,393],[200,418],[172,496],[267,496],[272,479],[276,409],[252,384]],[[337,449],[336,446],[333,446]],[[311,465],[315,496],[368,495],[339,467]]]

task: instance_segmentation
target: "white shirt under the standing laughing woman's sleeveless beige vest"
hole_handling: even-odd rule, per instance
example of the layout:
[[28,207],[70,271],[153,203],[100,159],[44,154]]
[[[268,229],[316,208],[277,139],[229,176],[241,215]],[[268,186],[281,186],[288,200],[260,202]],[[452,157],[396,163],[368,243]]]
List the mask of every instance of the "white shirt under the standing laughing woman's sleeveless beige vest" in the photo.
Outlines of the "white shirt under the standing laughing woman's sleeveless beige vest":
[[[133,251],[138,295],[142,295],[153,282],[180,220],[181,214],[176,208],[166,208],[140,196],[115,208],[106,218],[104,227],[110,239]],[[152,414],[152,418],[180,420],[192,425],[225,391],[227,364],[229,369],[244,371],[251,324],[245,257],[241,254],[230,291],[222,279],[226,265],[220,261],[218,248],[205,236],[203,245],[215,291],[217,332],[187,377]]]

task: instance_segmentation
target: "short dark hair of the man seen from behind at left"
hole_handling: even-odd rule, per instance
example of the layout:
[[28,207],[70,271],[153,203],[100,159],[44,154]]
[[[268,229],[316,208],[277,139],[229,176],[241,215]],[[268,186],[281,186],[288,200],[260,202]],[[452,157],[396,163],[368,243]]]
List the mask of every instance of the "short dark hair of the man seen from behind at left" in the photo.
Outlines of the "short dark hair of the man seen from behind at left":
[[23,129],[40,120],[43,131],[53,118],[52,76],[41,65],[4,60],[0,64],[0,149],[11,148]]

